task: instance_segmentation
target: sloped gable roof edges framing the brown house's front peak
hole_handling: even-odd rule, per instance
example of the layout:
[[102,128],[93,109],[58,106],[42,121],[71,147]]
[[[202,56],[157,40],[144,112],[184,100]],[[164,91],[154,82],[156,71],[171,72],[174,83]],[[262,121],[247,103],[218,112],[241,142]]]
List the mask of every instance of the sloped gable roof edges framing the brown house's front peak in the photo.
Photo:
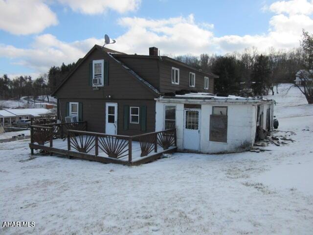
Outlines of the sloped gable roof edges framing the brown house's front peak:
[[128,71],[131,75],[133,75],[137,81],[141,82],[143,85],[145,85],[146,88],[148,88],[151,92],[153,92],[154,94],[160,94],[158,92],[158,90],[153,87],[149,82],[147,82],[146,80],[144,80],[142,77],[140,77],[137,73],[135,73],[134,71],[132,71],[130,68],[128,68],[125,64],[123,64],[121,61],[117,60],[116,58],[114,58],[112,55],[116,55],[116,54],[124,54],[123,52],[119,52],[116,50],[112,50],[106,47],[101,47],[99,45],[94,45],[89,52],[83,57],[78,59],[78,61],[76,62],[77,64],[75,65],[74,69],[72,71],[70,71],[70,73],[67,75],[67,77],[61,82],[61,84],[55,89],[55,91],[51,94],[52,96],[55,95],[55,93],[63,86],[63,84],[68,80],[68,78],[74,73],[74,71],[76,71],[76,69],[86,60],[86,58],[95,50],[101,50],[105,53],[107,53],[114,61],[116,61],[118,64],[121,65],[122,68],[124,68],[126,71]]

